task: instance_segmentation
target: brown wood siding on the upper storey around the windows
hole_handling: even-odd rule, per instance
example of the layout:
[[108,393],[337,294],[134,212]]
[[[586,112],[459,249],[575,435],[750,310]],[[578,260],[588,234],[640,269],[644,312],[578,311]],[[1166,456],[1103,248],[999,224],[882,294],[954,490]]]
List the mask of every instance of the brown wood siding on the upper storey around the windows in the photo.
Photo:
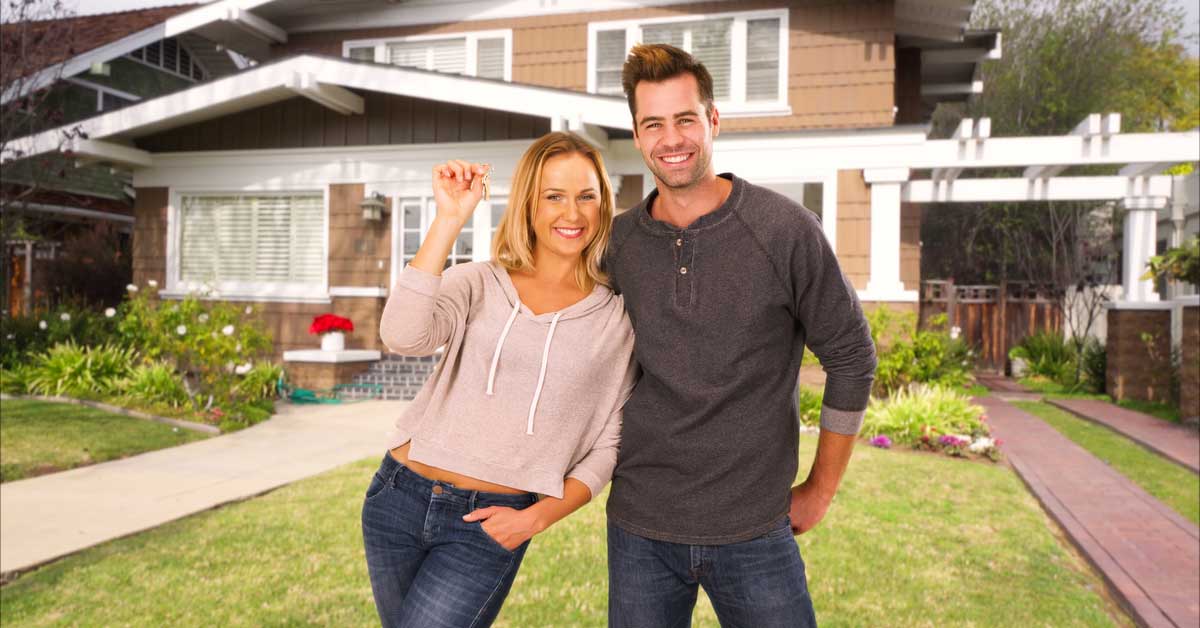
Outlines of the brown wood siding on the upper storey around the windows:
[[587,89],[588,23],[782,8],[788,11],[788,103],[792,115],[728,118],[726,131],[876,127],[893,124],[895,24],[892,0],[751,0],[547,17],[298,32],[276,56],[341,56],[342,42],[410,35],[512,29],[512,80]]

